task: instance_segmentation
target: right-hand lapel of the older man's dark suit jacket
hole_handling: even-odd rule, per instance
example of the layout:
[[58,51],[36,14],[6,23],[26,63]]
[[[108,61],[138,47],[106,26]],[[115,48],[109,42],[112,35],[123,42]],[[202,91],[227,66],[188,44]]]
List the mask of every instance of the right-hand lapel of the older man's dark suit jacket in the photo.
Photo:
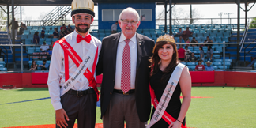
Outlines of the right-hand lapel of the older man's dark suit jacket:
[[141,63],[142,48],[145,42],[142,36],[140,36],[139,34],[136,34],[136,36],[137,36],[137,66],[136,66],[136,69],[137,69]]

